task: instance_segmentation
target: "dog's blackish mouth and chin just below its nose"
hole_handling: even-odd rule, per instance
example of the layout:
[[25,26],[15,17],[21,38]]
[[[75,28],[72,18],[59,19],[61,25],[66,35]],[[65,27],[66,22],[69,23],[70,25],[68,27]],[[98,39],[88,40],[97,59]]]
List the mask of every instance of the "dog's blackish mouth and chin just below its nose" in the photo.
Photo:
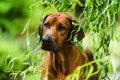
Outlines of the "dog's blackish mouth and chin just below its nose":
[[43,50],[46,50],[46,51],[53,51],[53,52],[56,52],[56,51],[59,51],[61,50],[60,47],[58,47],[54,42],[45,42],[45,41],[42,41],[42,45],[41,45],[41,48]]

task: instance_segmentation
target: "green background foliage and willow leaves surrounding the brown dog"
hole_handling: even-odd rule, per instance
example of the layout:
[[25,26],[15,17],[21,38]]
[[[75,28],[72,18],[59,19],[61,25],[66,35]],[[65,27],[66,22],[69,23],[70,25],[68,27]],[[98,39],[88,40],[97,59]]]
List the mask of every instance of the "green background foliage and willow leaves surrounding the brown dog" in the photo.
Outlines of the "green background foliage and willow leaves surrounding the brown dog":
[[[111,40],[120,41],[119,0],[1,0],[0,80],[40,79],[45,52],[40,49],[38,26],[46,14],[60,11],[77,19],[88,39],[76,45],[83,43],[92,49],[99,80],[109,80],[112,64],[108,47]],[[87,78],[93,75],[91,71]],[[78,73],[79,68],[67,80]]]

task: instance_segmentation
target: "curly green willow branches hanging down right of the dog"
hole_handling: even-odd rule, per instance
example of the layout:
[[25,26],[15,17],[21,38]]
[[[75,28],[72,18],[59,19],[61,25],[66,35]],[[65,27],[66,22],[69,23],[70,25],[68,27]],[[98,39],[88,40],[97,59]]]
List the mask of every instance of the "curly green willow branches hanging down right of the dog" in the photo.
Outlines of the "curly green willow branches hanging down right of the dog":
[[[113,39],[115,29],[115,16],[118,14],[118,0],[86,0],[84,17],[79,18],[79,24],[92,37],[93,52],[96,59],[105,58],[109,55],[108,47]],[[107,62],[100,62],[100,79],[107,77],[109,59]]]

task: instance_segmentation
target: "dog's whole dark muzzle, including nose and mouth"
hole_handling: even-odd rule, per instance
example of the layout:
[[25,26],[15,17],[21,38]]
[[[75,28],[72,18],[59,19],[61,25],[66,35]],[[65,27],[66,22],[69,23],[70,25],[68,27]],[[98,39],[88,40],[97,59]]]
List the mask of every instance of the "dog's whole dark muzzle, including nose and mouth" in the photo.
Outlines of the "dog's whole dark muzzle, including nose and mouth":
[[45,35],[42,38],[42,49],[47,51],[58,51],[60,48],[57,47],[56,43],[52,40],[50,35]]

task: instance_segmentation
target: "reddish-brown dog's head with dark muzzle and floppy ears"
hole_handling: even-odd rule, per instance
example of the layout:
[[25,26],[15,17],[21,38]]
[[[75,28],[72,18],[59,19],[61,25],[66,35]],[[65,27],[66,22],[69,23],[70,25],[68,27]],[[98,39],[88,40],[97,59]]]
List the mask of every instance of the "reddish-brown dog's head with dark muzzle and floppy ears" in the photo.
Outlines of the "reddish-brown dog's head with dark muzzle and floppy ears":
[[41,48],[48,51],[59,51],[64,46],[64,42],[73,39],[75,33],[78,34],[78,40],[81,40],[84,32],[82,30],[73,31],[76,28],[73,26],[75,22],[69,15],[61,12],[46,15],[39,27]]

